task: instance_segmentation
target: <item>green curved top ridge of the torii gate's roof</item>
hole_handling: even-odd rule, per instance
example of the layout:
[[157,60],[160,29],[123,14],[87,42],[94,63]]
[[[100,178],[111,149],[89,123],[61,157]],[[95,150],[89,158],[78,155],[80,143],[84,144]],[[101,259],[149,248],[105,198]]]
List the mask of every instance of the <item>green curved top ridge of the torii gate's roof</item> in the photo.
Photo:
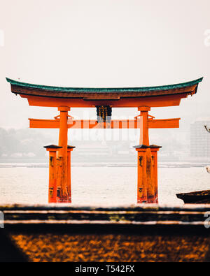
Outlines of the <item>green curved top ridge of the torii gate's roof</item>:
[[191,85],[197,85],[199,82],[202,82],[203,78],[199,78],[197,80],[193,80],[190,82],[178,83],[175,85],[162,85],[162,86],[153,86],[153,87],[110,87],[110,88],[90,88],[90,87],[55,87],[48,85],[34,85],[27,82],[18,82],[16,80],[11,80],[10,78],[6,78],[11,85],[18,85],[22,87],[29,87],[35,89],[45,89],[49,91],[59,91],[59,92],[146,92],[146,91],[162,91],[169,89],[179,89],[183,87],[188,87]]

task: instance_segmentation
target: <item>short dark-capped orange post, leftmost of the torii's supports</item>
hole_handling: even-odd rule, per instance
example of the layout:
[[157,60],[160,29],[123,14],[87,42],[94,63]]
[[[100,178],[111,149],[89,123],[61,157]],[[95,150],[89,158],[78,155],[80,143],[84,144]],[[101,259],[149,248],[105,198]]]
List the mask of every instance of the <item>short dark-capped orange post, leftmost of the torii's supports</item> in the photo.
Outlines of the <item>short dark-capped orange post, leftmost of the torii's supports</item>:
[[57,202],[57,151],[61,149],[57,145],[45,146],[49,152],[49,191],[48,203]]

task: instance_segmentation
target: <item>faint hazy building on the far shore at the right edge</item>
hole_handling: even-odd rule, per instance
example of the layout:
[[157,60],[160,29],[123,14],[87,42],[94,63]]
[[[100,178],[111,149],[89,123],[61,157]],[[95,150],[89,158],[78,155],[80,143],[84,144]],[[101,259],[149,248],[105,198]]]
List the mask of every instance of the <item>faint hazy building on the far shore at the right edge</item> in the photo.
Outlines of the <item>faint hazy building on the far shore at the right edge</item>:
[[210,158],[210,133],[204,129],[210,127],[210,118],[197,120],[190,125],[190,156]]

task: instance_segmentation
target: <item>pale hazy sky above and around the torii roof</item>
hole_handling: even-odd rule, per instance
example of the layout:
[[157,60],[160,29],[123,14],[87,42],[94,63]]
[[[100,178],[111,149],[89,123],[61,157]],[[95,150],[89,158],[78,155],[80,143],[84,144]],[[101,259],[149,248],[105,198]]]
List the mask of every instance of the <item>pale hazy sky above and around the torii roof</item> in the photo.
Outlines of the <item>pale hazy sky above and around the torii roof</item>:
[[[28,106],[6,76],[68,87],[171,85],[204,76],[180,107],[152,109],[182,124],[210,117],[209,0],[0,0],[0,127],[28,127],[56,108]],[[83,117],[83,110],[71,115]],[[136,109],[113,115],[137,115]],[[96,116],[95,110],[91,115]]]

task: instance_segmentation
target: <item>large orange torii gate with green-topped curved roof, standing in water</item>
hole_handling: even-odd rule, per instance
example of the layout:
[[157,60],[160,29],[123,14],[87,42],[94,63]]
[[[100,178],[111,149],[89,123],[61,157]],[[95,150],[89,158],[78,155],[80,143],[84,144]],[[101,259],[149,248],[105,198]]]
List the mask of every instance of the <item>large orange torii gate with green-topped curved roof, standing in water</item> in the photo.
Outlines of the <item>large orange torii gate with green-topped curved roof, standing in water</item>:
[[[71,203],[71,151],[68,129],[140,129],[137,203],[158,203],[158,150],[150,145],[148,129],[179,128],[180,118],[155,119],[153,107],[179,106],[193,96],[202,78],[178,85],[134,88],[72,88],[31,85],[10,80],[11,91],[27,98],[29,106],[57,107],[54,119],[29,119],[31,128],[59,129],[59,145],[46,146],[50,155],[49,203]],[[71,108],[97,108],[97,120],[75,120]],[[112,108],[138,108],[133,120],[111,120]]]

